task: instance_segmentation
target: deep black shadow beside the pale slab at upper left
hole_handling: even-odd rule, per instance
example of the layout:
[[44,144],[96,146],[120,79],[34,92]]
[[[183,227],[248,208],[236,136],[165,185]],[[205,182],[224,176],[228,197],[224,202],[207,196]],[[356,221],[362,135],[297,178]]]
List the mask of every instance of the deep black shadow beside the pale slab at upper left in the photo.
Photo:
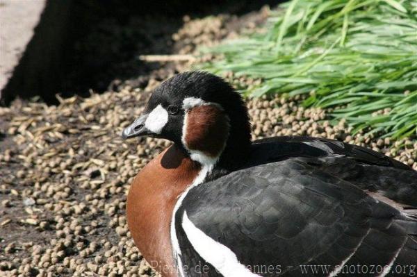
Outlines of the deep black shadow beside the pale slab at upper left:
[[111,83],[115,79],[134,79],[133,86],[145,87],[142,76],[158,65],[136,57],[172,53],[171,36],[183,15],[242,15],[279,2],[49,0],[1,103],[39,95],[54,104],[57,93],[88,96],[90,89],[103,92],[117,85]]

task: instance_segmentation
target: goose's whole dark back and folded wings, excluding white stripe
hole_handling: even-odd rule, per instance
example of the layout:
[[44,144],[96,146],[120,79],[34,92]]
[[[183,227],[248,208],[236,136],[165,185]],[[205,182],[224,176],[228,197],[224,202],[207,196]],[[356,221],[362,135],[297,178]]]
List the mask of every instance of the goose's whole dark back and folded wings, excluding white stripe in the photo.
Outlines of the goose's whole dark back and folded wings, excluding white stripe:
[[417,172],[407,165],[311,137],[256,141],[248,160],[244,170],[199,185],[183,200],[176,229],[190,268],[206,265],[206,276],[218,276],[193,251],[181,228],[184,211],[244,265],[280,266],[279,274],[262,276],[306,276],[299,265],[416,267]]

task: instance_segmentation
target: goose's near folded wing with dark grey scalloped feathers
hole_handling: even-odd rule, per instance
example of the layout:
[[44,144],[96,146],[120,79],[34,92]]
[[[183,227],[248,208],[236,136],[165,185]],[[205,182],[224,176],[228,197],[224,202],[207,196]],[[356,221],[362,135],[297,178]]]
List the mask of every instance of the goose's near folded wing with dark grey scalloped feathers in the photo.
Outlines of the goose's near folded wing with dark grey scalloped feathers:
[[[183,210],[243,265],[280,265],[288,276],[302,275],[299,265],[389,265],[397,255],[397,263],[417,255],[417,221],[304,158],[235,171],[190,190],[176,217],[181,250],[189,246]],[[205,262],[198,253],[183,259]]]

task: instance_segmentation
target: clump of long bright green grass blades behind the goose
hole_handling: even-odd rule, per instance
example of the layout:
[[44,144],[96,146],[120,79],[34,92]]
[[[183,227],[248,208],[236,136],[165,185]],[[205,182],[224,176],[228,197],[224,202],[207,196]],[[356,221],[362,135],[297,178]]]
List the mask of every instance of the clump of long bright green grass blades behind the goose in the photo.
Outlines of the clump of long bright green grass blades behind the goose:
[[203,49],[222,59],[202,68],[261,78],[250,96],[307,94],[354,132],[417,133],[417,1],[293,0],[267,32]]

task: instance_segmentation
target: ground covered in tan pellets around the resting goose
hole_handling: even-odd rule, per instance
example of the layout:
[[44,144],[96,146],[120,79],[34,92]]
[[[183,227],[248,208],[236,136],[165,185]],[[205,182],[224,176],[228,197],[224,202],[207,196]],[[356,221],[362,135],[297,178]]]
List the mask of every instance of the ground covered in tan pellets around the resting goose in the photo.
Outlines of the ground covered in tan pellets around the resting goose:
[[[265,8],[240,18],[185,17],[172,35],[175,53],[234,37],[266,15]],[[116,80],[115,92],[60,99],[59,106],[16,100],[0,108],[0,276],[158,276],[131,240],[124,206],[133,176],[170,142],[123,141],[120,133],[163,78],[189,67],[165,63],[136,81]],[[254,82],[228,78],[235,85]],[[300,101],[248,101],[252,137],[329,137],[417,169],[415,139],[353,137],[344,121],[331,126],[325,110],[302,108]]]

